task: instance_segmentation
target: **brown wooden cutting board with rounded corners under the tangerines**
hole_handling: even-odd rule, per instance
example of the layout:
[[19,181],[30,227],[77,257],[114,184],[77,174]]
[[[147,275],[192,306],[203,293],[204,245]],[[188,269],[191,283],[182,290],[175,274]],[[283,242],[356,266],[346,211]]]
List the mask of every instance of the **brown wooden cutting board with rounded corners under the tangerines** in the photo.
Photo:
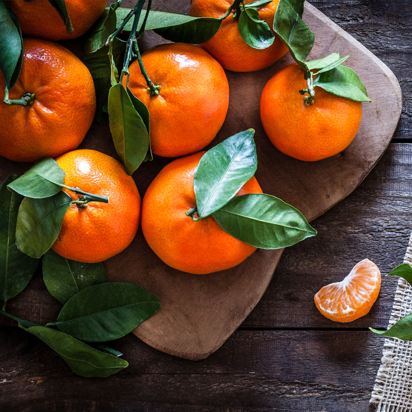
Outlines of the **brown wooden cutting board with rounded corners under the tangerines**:
[[[187,14],[189,1],[156,1],[154,9]],[[132,7],[125,0],[123,7]],[[309,3],[304,21],[315,33],[309,59],[332,52],[351,57],[344,63],[364,82],[372,103],[363,103],[361,127],[349,147],[319,162],[283,155],[269,142],[259,116],[260,93],[279,68],[292,62],[287,54],[273,66],[253,73],[227,72],[230,97],[227,118],[213,140],[252,127],[258,151],[256,177],[265,193],[280,197],[311,221],[351,193],[389,145],[402,107],[399,84],[391,70],[353,37]],[[165,42],[147,32],[142,49]],[[67,44],[75,49],[75,44]],[[190,115],[190,114],[188,114]],[[302,138],[304,136],[302,135]],[[80,148],[117,157],[108,125],[94,124]],[[156,157],[133,174],[143,197],[147,186],[171,159]],[[0,179],[23,173],[30,165],[1,158]],[[314,225],[316,229],[316,225]],[[127,281],[159,296],[162,308],[133,333],[156,349],[187,359],[202,359],[218,349],[248,316],[265,292],[283,250],[257,250],[241,265],[210,275],[191,275],[166,266],[147,246],[141,230],[129,248],[105,262],[110,281]],[[196,253],[196,245],[193,247]]]

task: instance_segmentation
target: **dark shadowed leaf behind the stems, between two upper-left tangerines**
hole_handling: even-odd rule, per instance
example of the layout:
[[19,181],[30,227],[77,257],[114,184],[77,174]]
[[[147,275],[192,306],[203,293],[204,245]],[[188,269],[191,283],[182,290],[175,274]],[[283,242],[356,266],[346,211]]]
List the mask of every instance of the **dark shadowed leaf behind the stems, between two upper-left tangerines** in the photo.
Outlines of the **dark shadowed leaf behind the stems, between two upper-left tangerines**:
[[[117,38],[112,42],[112,59],[117,66],[119,61],[123,61],[123,54],[126,49],[126,42]],[[83,63],[87,66],[93,77],[96,89],[96,115],[94,119],[100,124],[107,124],[109,116],[107,114],[108,97],[112,83],[110,81],[111,68],[108,56],[109,46],[104,46],[94,53],[85,53],[82,56]]]

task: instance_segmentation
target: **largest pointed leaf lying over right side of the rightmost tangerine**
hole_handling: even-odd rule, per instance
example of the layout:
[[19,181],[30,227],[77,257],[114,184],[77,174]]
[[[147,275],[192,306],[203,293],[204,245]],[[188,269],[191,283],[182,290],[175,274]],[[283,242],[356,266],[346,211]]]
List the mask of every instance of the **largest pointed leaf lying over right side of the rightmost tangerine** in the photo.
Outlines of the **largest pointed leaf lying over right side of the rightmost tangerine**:
[[358,75],[349,67],[337,66],[332,70],[321,73],[313,82],[336,96],[342,96],[360,102],[370,102],[365,85]]

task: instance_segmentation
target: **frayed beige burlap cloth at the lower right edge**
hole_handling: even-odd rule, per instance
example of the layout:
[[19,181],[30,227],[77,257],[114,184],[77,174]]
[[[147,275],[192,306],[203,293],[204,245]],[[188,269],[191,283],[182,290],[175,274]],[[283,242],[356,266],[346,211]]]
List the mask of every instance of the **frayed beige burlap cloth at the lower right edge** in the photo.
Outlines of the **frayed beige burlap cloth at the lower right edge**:
[[[403,262],[412,265],[412,234]],[[399,278],[388,328],[410,313],[412,287]],[[412,341],[385,338],[382,364],[369,402],[377,412],[412,411]]]

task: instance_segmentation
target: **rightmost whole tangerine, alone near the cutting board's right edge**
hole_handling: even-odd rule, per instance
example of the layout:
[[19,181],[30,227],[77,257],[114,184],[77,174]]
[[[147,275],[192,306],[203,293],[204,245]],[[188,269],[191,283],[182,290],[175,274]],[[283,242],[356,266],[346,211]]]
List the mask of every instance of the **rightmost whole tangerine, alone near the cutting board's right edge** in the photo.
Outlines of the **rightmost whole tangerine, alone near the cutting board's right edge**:
[[355,137],[362,103],[315,87],[311,104],[299,93],[307,88],[303,69],[292,63],[276,72],[260,98],[260,119],[282,153],[305,161],[336,155]]

